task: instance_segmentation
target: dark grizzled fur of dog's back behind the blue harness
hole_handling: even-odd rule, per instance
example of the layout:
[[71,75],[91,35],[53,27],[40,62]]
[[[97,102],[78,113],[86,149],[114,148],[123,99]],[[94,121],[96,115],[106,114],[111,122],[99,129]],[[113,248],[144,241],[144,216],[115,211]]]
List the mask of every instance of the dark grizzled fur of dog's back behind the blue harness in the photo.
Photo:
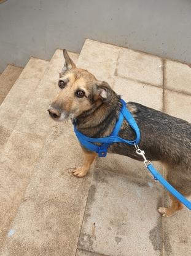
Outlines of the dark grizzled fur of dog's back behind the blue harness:
[[138,103],[128,105],[136,109],[134,118],[141,130],[142,147],[150,148],[152,159],[168,159],[191,169],[191,124]]

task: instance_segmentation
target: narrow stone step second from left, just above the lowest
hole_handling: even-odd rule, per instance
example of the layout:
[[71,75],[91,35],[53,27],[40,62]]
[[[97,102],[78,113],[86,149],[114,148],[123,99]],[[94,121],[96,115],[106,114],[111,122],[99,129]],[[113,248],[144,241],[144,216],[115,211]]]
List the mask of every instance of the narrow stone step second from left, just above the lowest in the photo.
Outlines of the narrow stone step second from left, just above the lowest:
[[[0,106],[0,155],[49,62],[31,57]],[[12,66],[10,66],[13,70]],[[3,74],[2,74],[3,75]],[[2,77],[1,77],[2,78]],[[6,77],[4,77],[6,79]]]

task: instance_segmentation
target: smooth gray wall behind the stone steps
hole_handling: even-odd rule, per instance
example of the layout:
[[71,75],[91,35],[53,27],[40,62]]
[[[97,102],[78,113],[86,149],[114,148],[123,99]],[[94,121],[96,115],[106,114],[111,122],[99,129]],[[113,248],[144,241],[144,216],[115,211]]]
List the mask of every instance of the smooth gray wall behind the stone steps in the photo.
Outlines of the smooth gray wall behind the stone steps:
[[190,0],[7,0],[0,4],[0,72],[86,38],[191,62]]

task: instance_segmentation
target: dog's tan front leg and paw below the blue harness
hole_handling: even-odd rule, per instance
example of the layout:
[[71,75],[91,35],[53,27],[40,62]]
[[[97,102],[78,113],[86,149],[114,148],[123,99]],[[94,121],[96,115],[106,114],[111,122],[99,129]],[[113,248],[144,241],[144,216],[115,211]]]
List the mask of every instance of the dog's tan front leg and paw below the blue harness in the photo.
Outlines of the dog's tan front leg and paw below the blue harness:
[[84,151],[83,165],[82,165],[82,167],[76,168],[72,171],[72,174],[79,178],[82,178],[85,175],[87,175],[88,170],[90,170],[90,167],[97,155],[95,152],[87,151],[84,147],[82,147],[82,149]]

